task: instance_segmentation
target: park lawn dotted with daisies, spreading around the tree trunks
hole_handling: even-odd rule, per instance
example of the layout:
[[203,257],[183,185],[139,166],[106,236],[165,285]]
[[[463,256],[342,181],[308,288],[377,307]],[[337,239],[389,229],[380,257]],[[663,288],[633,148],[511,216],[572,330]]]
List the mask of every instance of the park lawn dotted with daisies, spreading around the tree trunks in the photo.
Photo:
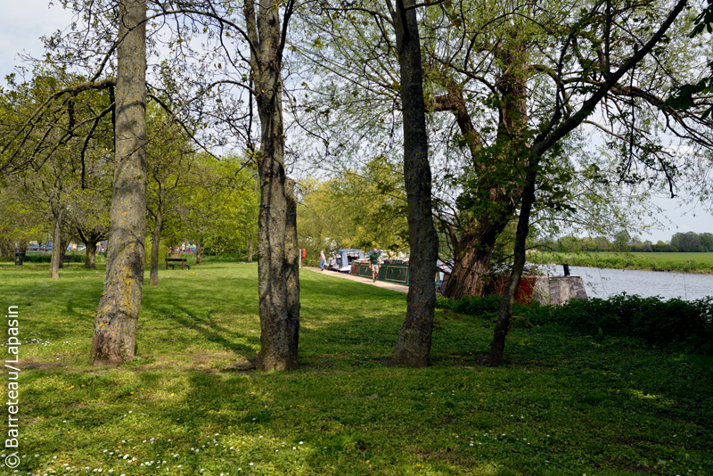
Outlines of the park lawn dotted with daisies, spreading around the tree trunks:
[[260,374],[242,369],[258,267],[214,263],[161,270],[138,357],[93,367],[103,270],[46,274],[0,266],[23,342],[17,474],[713,474],[711,357],[518,328],[492,369],[492,323],[437,311],[433,365],[388,368],[406,295],[304,271],[300,368]]

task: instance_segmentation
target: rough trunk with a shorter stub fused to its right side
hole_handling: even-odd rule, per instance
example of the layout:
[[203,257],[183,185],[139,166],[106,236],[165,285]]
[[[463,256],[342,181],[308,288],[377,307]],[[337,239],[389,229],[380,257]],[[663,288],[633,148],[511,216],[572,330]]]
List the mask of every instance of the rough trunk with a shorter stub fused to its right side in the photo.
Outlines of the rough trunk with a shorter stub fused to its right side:
[[288,291],[287,233],[288,200],[285,193],[284,131],[282,101],[282,31],[279,9],[272,0],[260,0],[258,12],[245,3],[250,38],[250,67],[260,118],[258,176],[258,294],[260,353],[258,368],[290,370],[298,365],[299,308],[294,292]]

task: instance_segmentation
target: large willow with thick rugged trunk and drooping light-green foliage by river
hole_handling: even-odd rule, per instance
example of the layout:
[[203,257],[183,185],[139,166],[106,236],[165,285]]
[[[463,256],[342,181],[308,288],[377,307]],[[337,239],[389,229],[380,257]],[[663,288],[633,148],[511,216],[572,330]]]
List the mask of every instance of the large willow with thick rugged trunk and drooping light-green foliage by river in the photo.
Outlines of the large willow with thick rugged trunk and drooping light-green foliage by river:
[[[630,32],[639,37],[668,7],[658,0],[609,4],[611,15],[618,18],[633,20],[644,15],[649,19],[632,21]],[[490,270],[498,237],[517,218],[526,182],[527,160],[521,152],[532,146],[538,122],[556,107],[559,86],[553,80],[557,62],[553,52],[561,38],[577,29],[561,79],[568,94],[573,91],[575,97],[579,90],[601,84],[597,71],[605,57],[612,64],[626,61],[628,39],[616,42],[607,54],[602,50],[606,22],[601,6],[600,2],[568,0],[537,5],[462,0],[431,6],[419,16],[426,38],[422,66],[430,112],[434,206],[454,265],[446,296],[459,298],[487,290],[483,276]],[[390,61],[394,48],[383,35],[388,24],[365,21],[368,15],[374,17],[375,8],[369,3],[351,10],[324,9],[329,16],[311,23],[305,20],[307,35],[317,47],[299,47],[305,61],[324,76],[314,85],[306,82],[313,94],[305,103],[300,101],[304,111],[300,120],[311,138],[317,139],[314,142],[324,144],[322,155],[331,160],[359,157],[367,148],[389,154],[398,144],[401,113],[397,65]],[[340,10],[348,14],[339,14]],[[573,25],[572,12],[580,11],[582,18]],[[585,135],[593,135],[591,130],[576,138],[566,137],[556,152],[547,152],[550,167],[538,175],[536,209],[538,217],[547,218],[548,226],[564,224],[612,233],[639,225],[639,216],[630,205],[645,200],[645,195],[639,198],[630,193],[627,202],[617,200],[627,193],[622,189],[632,176],[649,180],[652,175],[671,172],[670,157],[657,144],[656,129],[668,127],[674,135],[705,138],[701,134],[704,125],[693,115],[658,109],[661,94],[685,77],[686,65],[701,52],[700,46],[690,48],[678,38],[680,28],[673,30],[666,47],[657,47],[655,57],[637,65],[629,78],[633,82],[611,88],[601,115],[587,119],[603,135],[602,143],[612,144],[608,152],[614,160],[619,160],[624,144],[634,143],[636,174],[619,180],[619,169],[631,167],[627,160],[607,168],[609,164],[602,166],[603,160],[597,159],[599,154],[586,153]],[[633,102],[635,117],[628,113]],[[697,121],[698,132],[693,130]]]

